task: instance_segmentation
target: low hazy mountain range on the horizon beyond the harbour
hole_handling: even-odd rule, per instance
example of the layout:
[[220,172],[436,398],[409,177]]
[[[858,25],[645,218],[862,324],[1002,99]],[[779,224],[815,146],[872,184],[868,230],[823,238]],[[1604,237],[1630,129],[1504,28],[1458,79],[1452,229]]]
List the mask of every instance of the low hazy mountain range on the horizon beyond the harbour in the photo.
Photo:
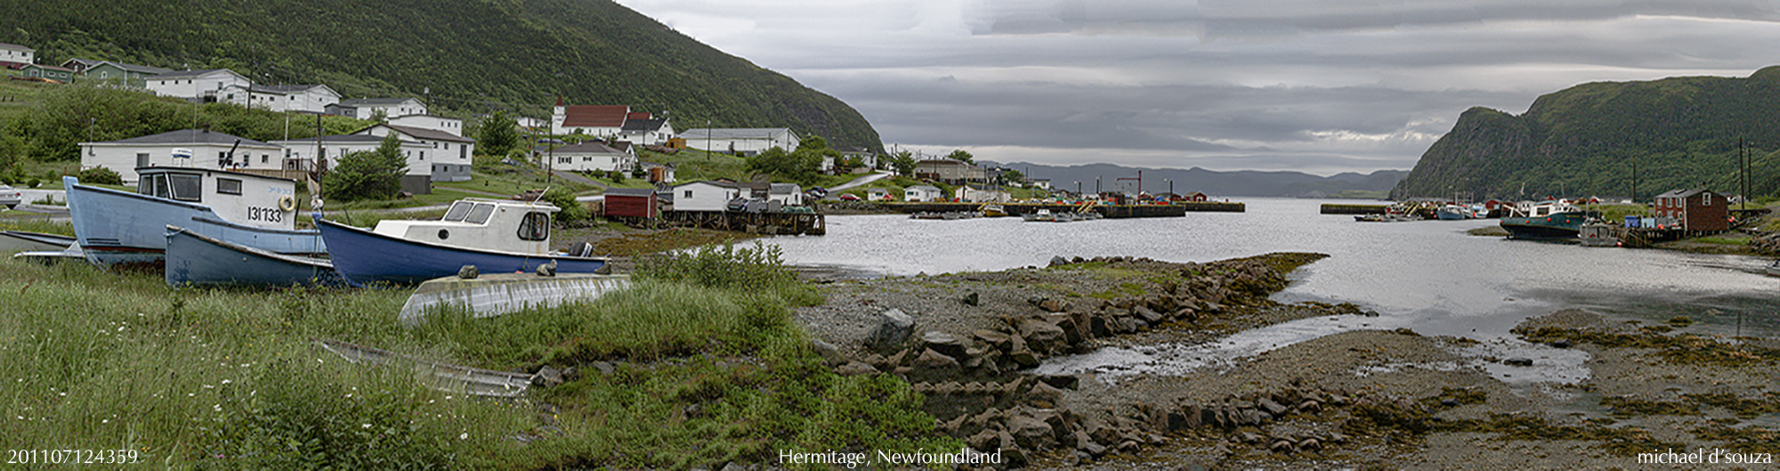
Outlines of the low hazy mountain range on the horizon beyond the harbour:
[[[1025,173],[1027,178],[1048,178],[1052,187],[1075,191],[1095,191],[1095,178],[1100,178],[1102,191],[1136,191],[1137,171],[1143,171],[1143,191],[1205,193],[1210,196],[1333,196],[1340,191],[1371,191],[1383,194],[1397,186],[1408,171],[1380,169],[1372,173],[1337,173],[1317,177],[1303,171],[1214,171],[1203,168],[1129,168],[1118,164],[1084,166],[1047,166],[1031,162],[983,162],[1004,166]],[[1130,178],[1130,180],[1120,180]]]

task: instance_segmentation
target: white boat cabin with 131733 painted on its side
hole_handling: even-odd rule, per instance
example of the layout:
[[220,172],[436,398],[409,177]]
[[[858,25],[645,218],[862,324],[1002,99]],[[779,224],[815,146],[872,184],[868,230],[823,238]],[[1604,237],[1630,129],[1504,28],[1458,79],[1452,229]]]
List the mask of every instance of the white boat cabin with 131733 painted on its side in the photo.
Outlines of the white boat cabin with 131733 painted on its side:
[[230,223],[295,228],[297,182],[205,168],[135,168],[135,193],[210,207]]

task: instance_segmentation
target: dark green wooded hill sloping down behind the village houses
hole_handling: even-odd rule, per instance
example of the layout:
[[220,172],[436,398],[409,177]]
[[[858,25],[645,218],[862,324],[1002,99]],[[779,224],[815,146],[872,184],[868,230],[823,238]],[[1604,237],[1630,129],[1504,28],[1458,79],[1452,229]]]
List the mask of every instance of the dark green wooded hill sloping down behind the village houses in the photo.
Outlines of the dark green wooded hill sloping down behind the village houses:
[[676,128],[789,127],[881,148],[858,111],[611,0],[0,0],[0,43],[162,68],[230,68],[456,114],[570,103],[669,111]]

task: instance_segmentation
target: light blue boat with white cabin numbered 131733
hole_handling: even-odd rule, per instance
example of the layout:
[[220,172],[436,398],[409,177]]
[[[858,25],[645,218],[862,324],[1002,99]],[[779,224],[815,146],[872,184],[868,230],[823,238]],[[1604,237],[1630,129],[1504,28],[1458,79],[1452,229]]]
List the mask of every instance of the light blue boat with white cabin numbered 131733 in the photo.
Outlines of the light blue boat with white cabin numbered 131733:
[[295,230],[295,182],[206,168],[137,168],[137,193],[62,177],[75,237],[101,268],[162,266],[166,227],[274,253],[317,255],[319,230]]

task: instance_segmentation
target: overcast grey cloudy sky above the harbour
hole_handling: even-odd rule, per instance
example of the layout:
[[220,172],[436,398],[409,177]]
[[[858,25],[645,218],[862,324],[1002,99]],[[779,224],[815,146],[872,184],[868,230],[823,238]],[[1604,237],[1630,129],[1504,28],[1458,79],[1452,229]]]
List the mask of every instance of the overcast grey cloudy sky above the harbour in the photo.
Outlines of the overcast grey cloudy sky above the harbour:
[[1780,64],[1780,0],[618,0],[977,161],[1410,169],[1460,112]]

